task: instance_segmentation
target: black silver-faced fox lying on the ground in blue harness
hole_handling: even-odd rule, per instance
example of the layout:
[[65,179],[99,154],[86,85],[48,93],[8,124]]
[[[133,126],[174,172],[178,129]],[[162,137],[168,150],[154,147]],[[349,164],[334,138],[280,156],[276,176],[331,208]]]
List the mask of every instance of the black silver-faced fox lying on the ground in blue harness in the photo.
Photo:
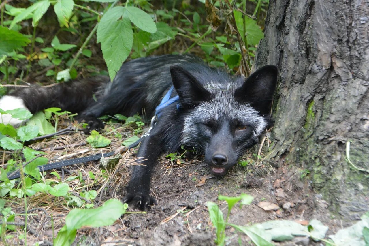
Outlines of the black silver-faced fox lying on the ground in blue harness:
[[[97,117],[120,113],[154,115],[171,86],[178,102],[164,107],[139,147],[123,202],[145,210],[156,204],[150,178],[159,155],[180,146],[194,146],[205,156],[210,172],[223,176],[244,151],[258,143],[266,129],[277,81],[277,68],[264,66],[248,79],[210,68],[193,55],[161,55],[125,62],[113,82],[107,77],[62,83],[50,88],[31,86],[0,99],[4,110],[24,107],[35,113],[48,107],[78,113],[89,130],[101,129]],[[95,97],[93,97],[95,95]],[[95,98],[95,100],[93,99]],[[97,100],[96,100],[97,99]],[[0,115],[1,116],[1,115]],[[0,122],[22,122],[2,115]]]

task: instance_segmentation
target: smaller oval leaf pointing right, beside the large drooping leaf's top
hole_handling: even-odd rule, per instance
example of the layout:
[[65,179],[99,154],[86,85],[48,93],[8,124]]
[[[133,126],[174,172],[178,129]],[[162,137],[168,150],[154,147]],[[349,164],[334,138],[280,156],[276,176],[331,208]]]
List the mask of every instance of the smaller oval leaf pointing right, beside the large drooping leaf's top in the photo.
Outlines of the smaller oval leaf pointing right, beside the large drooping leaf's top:
[[132,21],[132,23],[140,28],[143,31],[148,33],[155,33],[156,32],[156,25],[154,20],[149,16],[148,13],[145,11],[130,6],[125,8],[124,17],[127,14],[128,18]]

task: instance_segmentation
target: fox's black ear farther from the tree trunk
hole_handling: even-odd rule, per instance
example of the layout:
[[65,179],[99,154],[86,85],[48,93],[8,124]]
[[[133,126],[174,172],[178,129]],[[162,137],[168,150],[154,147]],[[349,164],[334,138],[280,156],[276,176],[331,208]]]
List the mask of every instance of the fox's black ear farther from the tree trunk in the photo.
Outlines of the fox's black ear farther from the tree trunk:
[[185,109],[210,98],[209,92],[189,71],[180,66],[171,66],[170,74],[181,105]]

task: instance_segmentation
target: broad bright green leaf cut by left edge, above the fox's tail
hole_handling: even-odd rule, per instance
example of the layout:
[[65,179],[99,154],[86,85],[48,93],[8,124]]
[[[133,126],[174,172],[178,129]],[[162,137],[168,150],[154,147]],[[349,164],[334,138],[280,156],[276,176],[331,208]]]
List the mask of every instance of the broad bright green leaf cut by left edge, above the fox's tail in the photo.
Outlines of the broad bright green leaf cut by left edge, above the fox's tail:
[[0,26],[0,55],[19,49],[29,44],[31,40],[17,31]]

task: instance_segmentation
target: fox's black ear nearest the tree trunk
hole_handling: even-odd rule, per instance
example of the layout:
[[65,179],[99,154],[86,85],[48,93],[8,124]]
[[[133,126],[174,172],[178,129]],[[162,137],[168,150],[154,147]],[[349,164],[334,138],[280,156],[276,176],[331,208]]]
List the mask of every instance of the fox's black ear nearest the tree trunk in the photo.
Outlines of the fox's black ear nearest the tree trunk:
[[267,65],[251,74],[244,84],[238,88],[234,97],[242,102],[248,102],[262,114],[268,114],[276,88],[278,69]]

